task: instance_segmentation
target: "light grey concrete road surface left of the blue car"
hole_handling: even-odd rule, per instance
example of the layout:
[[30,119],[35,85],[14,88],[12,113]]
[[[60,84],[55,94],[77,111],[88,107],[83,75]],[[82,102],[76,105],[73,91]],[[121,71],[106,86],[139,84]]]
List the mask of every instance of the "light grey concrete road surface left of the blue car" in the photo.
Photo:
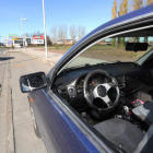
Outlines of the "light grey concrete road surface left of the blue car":
[[46,153],[33,130],[27,94],[22,94],[19,78],[51,66],[23,52],[0,49],[0,153]]

